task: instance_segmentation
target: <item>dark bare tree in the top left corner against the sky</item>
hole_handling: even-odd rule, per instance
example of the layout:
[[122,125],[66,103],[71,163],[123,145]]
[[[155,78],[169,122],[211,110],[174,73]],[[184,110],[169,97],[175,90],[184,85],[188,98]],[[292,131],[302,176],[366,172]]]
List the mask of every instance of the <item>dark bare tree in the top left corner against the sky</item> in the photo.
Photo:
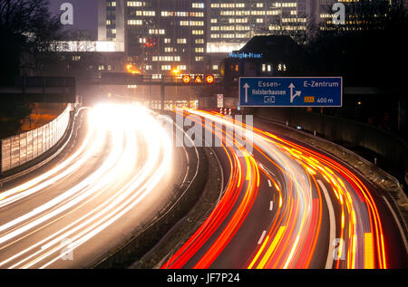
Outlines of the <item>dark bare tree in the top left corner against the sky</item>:
[[51,43],[63,38],[63,26],[48,10],[47,0],[0,0],[1,74],[9,81],[19,73],[41,73],[58,57]]

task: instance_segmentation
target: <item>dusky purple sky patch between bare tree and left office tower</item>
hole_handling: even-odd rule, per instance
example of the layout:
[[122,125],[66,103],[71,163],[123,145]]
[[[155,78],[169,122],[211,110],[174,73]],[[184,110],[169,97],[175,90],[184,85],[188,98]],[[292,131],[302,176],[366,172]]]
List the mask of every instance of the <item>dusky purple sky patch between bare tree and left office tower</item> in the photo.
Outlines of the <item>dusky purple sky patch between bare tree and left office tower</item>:
[[98,30],[98,1],[97,0],[49,0],[53,14],[60,14],[63,3],[73,5],[73,28],[90,30],[96,37]]

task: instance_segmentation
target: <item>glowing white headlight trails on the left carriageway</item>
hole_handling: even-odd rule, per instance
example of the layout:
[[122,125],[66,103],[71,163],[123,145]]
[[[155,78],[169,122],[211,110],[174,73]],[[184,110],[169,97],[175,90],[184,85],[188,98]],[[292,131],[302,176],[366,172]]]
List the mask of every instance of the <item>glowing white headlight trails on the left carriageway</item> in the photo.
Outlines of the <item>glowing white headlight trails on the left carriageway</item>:
[[[81,172],[86,161],[105,147],[107,140],[110,148],[106,152],[109,154],[91,175],[48,202],[0,225],[0,250],[18,243],[27,232],[35,234],[79,210],[93,199],[104,199],[101,205],[80,214],[73,222],[46,234],[41,240],[31,242],[28,247],[25,245],[0,262],[0,267],[12,263],[8,268],[30,268],[41,263],[44,268],[53,264],[63,256],[56,254],[61,251],[59,244],[63,239],[70,237],[72,240],[70,250],[88,242],[130,213],[166,177],[172,159],[171,140],[151,112],[138,106],[101,105],[90,110],[89,131],[78,151],[64,160],[62,167],[54,167],[24,185],[6,191],[9,197],[4,204],[18,203],[25,196],[34,195]],[[147,143],[142,156],[137,153],[141,141]],[[138,162],[137,158],[143,158],[143,162]],[[118,186],[118,182],[123,184]],[[105,196],[107,192],[109,196]],[[22,196],[14,197],[18,194]],[[15,241],[10,242],[12,239]]]

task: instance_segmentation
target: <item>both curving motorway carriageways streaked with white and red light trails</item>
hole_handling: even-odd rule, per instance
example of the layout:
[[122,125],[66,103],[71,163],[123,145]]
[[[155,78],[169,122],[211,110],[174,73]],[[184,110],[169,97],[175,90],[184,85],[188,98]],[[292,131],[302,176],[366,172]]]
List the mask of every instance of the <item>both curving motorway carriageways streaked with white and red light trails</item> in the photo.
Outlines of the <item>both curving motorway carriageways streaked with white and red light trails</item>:
[[[219,141],[213,150],[224,186],[203,224],[161,268],[385,269],[406,263],[401,225],[387,199],[351,167],[218,112],[176,114]],[[61,155],[2,188],[0,267],[92,266],[150,223],[170,201],[169,186],[187,173],[185,155],[173,147],[164,122],[135,105],[79,110]]]

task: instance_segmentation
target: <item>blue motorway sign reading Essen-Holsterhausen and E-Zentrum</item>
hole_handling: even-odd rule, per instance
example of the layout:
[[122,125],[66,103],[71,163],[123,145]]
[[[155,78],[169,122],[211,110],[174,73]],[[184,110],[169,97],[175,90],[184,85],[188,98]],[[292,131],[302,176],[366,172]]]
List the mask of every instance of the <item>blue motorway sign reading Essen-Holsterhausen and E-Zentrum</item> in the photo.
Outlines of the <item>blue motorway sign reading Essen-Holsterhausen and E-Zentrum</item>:
[[239,78],[241,107],[342,107],[342,77]]

